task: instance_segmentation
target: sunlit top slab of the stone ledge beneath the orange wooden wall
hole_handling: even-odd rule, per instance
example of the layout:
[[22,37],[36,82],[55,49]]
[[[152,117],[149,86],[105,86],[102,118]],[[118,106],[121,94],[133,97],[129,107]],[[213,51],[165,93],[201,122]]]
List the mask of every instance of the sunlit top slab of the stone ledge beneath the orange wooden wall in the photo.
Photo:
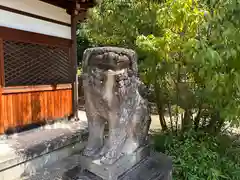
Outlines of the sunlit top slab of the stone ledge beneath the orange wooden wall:
[[0,172],[49,152],[85,141],[87,122],[47,125],[0,139]]

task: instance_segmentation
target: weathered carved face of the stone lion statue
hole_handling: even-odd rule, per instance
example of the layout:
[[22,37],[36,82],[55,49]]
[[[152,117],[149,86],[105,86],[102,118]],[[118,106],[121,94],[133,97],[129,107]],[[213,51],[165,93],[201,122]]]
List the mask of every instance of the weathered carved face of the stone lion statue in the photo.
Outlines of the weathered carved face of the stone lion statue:
[[[122,98],[132,83],[129,59],[115,53],[90,59],[89,82],[99,96]],[[106,95],[107,94],[107,95]]]

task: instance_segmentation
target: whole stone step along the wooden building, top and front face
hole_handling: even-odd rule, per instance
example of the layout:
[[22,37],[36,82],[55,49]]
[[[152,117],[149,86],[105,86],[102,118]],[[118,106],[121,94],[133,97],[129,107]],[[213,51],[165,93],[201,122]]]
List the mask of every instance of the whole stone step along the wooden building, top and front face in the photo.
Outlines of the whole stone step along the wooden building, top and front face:
[[63,121],[0,139],[0,180],[19,180],[82,150],[86,121]]

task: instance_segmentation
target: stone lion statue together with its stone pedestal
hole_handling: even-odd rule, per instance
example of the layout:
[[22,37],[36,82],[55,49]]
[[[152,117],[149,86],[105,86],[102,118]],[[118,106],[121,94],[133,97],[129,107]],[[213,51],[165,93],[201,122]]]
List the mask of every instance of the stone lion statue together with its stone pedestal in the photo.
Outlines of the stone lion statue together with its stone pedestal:
[[79,180],[171,179],[171,161],[158,162],[166,157],[150,155],[150,111],[144,98],[146,88],[137,74],[137,56],[132,50],[98,47],[84,52],[89,137]]

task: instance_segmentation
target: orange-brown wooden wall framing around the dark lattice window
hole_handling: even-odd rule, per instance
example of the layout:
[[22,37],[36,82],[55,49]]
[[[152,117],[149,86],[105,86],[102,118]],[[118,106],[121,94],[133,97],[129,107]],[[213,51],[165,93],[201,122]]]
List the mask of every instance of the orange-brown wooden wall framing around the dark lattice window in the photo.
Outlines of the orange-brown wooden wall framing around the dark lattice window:
[[0,134],[12,128],[72,115],[71,84],[6,87],[2,38],[69,49],[72,45],[69,39],[0,27]]

